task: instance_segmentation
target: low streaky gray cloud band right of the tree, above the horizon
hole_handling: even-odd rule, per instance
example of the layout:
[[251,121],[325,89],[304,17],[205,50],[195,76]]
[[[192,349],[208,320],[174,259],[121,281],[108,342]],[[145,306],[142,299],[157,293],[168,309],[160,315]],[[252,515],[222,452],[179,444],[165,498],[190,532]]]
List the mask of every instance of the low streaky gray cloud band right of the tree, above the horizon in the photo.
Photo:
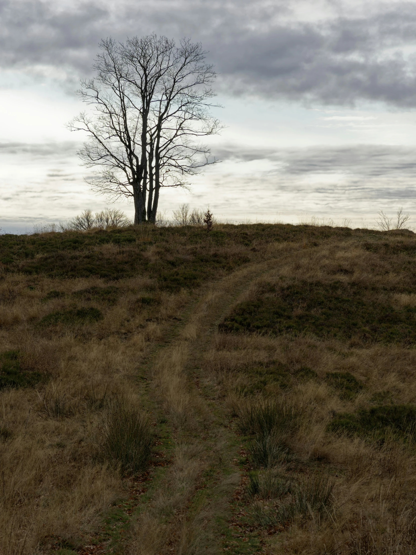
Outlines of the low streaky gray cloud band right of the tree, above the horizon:
[[[256,164],[239,176],[240,194],[258,190],[270,206],[277,198],[298,210],[337,215],[377,213],[403,204],[416,210],[414,149],[389,145],[351,145],[302,149],[255,150],[229,145],[221,150],[224,162]],[[264,169],[261,169],[261,163]],[[260,167],[260,169],[258,169]],[[217,179],[217,186],[233,183],[235,175]],[[249,193],[250,194],[250,193]],[[231,198],[229,199],[231,201]],[[312,208],[310,208],[312,206]],[[259,209],[260,210],[260,209]],[[262,206],[266,211],[267,207]],[[293,210],[293,208],[292,208]]]

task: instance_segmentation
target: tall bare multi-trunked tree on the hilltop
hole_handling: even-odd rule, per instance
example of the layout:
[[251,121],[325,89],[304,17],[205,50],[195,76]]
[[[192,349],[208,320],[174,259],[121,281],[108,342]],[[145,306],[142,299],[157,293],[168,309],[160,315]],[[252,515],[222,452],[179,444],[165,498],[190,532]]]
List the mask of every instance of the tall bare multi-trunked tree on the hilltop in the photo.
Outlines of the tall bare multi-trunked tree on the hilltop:
[[154,223],[160,188],[187,187],[187,176],[216,162],[199,143],[221,128],[210,113],[216,74],[188,39],[108,38],[100,48],[97,77],[78,91],[90,109],[68,127],[89,135],[79,155],[94,170],[93,189],[133,197],[134,223]]

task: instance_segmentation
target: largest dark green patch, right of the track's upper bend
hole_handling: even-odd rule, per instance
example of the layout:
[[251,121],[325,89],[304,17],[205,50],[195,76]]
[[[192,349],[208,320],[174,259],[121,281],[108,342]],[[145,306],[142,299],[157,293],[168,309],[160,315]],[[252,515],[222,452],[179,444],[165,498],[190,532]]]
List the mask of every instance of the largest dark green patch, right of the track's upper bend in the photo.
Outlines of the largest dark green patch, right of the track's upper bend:
[[319,337],[384,343],[416,342],[416,308],[395,309],[377,298],[383,291],[334,281],[264,284],[255,299],[240,303],[219,325],[224,332],[308,332]]

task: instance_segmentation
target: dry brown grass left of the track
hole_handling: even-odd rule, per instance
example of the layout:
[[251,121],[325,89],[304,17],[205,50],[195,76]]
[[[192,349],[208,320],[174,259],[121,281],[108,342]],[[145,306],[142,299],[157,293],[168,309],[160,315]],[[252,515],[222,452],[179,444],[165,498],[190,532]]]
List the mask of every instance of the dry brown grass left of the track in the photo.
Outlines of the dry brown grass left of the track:
[[[48,551],[56,538],[77,547],[81,533],[93,531],[100,514],[123,495],[117,472],[97,465],[93,457],[98,413],[91,395],[131,396],[140,357],[161,339],[166,324],[183,306],[181,295],[161,293],[161,306],[135,304],[148,295],[148,281],[119,281],[123,290],[115,305],[77,302],[103,312],[98,322],[37,327],[43,316],[71,308],[70,294],[87,287],[108,286],[103,280],[51,280],[6,275],[0,307],[2,351],[22,353],[21,367],[40,371],[47,381],[34,389],[0,393],[1,553]],[[66,294],[42,301],[50,290]],[[155,318],[156,316],[156,318]],[[140,406],[141,401],[136,399]]]

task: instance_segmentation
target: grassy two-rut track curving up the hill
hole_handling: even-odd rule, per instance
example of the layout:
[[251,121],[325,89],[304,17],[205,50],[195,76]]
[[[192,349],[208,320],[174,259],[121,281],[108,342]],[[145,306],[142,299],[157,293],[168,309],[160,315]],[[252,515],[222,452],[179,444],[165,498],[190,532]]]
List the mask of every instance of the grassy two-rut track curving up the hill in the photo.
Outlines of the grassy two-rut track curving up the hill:
[[254,537],[232,526],[236,516],[230,503],[241,482],[241,446],[201,362],[222,316],[273,265],[276,261],[269,260],[248,266],[207,287],[179,333],[148,367],[147,395],[163,408],[170,434],[162,443],[172,463],[152,488],[149,502],[140,507],[131,530],[132,554],[214,554],[223,552],[227,541],[235,544],[233,553],[258,551]]

